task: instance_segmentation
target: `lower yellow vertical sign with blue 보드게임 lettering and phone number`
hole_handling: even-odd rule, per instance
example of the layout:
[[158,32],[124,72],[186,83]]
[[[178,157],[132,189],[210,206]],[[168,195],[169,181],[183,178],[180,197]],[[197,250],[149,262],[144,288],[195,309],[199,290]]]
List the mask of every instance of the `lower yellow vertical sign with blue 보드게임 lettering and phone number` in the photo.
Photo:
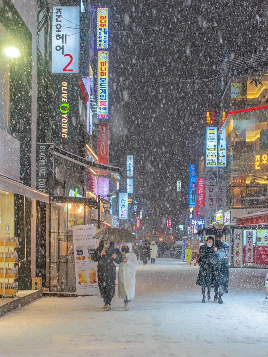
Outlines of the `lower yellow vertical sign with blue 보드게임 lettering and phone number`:
[[98,118],[109,117],[109,52],[98,51]]

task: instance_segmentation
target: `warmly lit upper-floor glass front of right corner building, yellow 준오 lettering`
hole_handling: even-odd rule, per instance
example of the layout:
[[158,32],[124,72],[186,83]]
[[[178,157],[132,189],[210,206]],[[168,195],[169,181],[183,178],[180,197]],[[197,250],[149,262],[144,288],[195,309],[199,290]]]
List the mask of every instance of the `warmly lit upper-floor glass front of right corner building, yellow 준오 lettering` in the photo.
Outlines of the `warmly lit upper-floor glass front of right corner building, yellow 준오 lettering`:
[[[252,91],[258,99],[260,94],[266,98],[266,87],[268,81],[263,81],[261,88],[254,86]],[[247,93],[254,95],[249,88]],[[229,198],[231,207],[268,207],[268,109],[259,105],[229,114],[220,130],[225,132],[227,145],[227,202]]]

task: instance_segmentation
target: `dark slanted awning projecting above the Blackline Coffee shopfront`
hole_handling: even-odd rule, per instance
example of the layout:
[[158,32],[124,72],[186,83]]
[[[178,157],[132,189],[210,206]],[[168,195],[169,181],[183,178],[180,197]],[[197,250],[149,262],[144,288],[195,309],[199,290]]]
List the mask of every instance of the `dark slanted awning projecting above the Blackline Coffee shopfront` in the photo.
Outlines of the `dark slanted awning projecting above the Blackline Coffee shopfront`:
[[99,162],[88,160],[85,157],[81,157],[81,156],[72,154],[69,151],[60,149],[59,147],[57,147],[53,144],[51,144],[50,152],[54,153],[55,155],[57,155],[59,157],[63,157],[63,159],[75,162],[78,165],[81,165],[81,166],[87,167],[88,169],[91,169],[94,172],[91,171],[90,175],[103,176],[103,177],[107,177],[107,178],[115,178],[116,180],[121,180],[120,167],[104,165],[104,164],[100,164]]

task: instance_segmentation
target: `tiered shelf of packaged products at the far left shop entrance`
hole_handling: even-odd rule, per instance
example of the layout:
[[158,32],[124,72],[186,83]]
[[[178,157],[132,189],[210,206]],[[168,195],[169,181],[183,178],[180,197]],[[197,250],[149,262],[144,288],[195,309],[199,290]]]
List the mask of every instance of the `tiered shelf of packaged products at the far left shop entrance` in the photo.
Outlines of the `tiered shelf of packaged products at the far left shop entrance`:
[[[4,253],[4,255],[8,252],[13,253],[16,248],[19,248],[19,243],[18,242],[7,242],[5,239],[4,241],[0,242],[0,251]],[[6,269],[9,270],[9,268],[14,268],[15,264],[19,263],[19,258],[18,257],[1,257],[0,258],[0,267],[3,268],[4,273],[0,273],[0,296],[1,297],[12,297],[15,296],[16,293],[18,293],[18,287],[15,286],[10,287],[14,284],[15,280],[18,279],[19,275],[18,273],[5,273]],[[2,283],[2,284],[1,284]],[[7,284],[8,288],[5,286],[3,287],[3,284]]]

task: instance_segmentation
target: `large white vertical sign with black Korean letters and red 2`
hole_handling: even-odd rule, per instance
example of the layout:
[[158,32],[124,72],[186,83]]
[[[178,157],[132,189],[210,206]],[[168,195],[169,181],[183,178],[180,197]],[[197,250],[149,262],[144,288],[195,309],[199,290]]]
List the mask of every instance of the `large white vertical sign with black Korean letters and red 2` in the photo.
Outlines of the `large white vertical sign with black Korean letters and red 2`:
[[53,6],[52,73],[79,71],[80,9],[78,6]]

